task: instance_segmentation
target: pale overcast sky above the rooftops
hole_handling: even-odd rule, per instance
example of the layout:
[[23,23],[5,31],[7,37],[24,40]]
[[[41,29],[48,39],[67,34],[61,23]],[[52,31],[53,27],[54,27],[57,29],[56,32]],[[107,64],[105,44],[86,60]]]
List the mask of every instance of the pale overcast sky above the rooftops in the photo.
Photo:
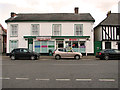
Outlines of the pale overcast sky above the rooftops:
[[0,0],[0,23],[7,28],[5,20],[15,13],[74,13],[74,7],[79,7],[79,13],[91,13],[96,26],[108,11],[118,13],[120,0]]

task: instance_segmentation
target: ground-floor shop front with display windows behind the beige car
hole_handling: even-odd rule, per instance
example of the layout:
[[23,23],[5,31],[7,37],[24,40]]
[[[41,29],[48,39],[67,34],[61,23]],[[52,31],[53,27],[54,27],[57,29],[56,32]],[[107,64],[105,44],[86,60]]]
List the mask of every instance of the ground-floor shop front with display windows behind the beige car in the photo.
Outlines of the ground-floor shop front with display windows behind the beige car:
[[[29,38],[29,37],[28,37]],[[86,53],[86,38],[90,36],[36,36],[33,38],[33,48],[28,48],[37,53],[49,53],[56,48],[70,48],[75,52]]]

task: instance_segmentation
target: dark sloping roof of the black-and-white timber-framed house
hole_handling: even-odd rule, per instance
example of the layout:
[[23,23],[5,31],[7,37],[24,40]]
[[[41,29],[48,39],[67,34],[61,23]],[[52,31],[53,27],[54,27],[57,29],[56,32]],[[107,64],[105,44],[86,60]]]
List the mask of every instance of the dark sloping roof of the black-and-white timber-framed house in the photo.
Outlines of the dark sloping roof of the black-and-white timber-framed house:
[[97,27],[101,25],[111,25],[111,26],[120,25],[120,13],[111,13],[102,22],[100,22],[97,25]]

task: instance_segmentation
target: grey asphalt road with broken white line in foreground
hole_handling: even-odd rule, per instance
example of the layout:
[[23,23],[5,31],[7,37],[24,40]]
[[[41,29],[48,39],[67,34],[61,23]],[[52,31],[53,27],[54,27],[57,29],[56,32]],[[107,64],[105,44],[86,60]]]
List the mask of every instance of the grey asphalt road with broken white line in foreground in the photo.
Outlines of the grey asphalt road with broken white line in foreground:
[[118,60],[2,59],[3,88],[118,88]]

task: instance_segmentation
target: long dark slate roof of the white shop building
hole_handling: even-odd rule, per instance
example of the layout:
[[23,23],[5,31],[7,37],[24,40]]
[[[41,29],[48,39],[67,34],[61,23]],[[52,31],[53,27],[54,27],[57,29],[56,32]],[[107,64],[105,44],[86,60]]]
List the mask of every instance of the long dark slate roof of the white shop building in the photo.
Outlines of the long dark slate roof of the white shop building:
[[29,22],[29,21],[92,21],[95,19],[90,13],[21,13],[15,18],[9,18],[5,22]]

